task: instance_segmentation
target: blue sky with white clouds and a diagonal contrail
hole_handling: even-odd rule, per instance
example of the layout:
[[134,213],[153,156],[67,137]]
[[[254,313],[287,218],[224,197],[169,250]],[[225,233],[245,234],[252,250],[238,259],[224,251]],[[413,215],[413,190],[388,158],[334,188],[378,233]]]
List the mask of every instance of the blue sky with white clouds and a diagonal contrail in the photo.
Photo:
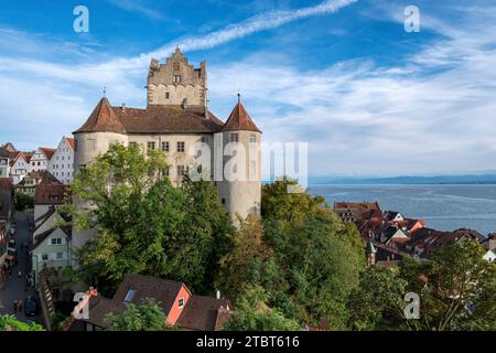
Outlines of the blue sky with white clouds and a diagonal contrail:
[[[8,1],[0,141],[56,146],[107,87],[145,105],[151,57],[207,61],[211,108],[239,90],[265,141],[308,141],[312,175],[496,169],[496,4],[471,1]],[[89,10],[89,33],[73,9]],[[403,29],[407,6],[420,33]]]

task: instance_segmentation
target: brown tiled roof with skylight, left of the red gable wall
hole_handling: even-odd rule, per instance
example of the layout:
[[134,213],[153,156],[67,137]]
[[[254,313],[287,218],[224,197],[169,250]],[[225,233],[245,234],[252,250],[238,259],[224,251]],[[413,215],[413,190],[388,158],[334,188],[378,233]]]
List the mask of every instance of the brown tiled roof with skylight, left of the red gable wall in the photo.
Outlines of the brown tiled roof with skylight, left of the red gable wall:
[[169,314],[175,298],[184,287],[183,282],[175,280],[161,279],[150,276],[128,274],[125,276],[112,300],[125,302],[129,290],[134,290],[134,296],[130,301],[134,304],[141,304],[143,299],[153,298],[165,314]]

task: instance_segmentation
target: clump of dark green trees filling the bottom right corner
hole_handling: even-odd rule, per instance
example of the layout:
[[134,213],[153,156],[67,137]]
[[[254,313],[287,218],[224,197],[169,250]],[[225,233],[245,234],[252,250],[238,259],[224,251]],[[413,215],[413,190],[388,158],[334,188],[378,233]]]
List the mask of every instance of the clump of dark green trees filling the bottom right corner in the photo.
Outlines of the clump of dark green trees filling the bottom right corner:
[[[496,265],[475,240],[443,247],[428,261],[371,267],[351,296],[354,330],[495,330]],[[406,320],[405,295],[420,297],[420,319]]]

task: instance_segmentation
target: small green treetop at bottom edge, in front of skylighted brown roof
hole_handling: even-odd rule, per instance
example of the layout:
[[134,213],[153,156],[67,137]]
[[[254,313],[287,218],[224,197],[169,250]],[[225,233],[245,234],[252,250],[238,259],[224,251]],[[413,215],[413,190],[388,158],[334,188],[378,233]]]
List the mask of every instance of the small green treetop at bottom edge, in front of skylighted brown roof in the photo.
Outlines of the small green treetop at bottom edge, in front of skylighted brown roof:
[[165,331],[173,330],[166,324],[166,317],[153,299],[142,304],[126,304],[122,314],[106,315],[109,331]]

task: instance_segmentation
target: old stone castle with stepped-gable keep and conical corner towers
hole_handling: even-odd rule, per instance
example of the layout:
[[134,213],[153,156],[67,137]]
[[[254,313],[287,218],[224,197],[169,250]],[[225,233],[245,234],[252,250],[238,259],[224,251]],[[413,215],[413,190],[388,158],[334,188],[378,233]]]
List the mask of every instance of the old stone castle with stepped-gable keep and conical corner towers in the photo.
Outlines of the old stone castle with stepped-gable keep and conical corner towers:
[[[236,214],[246,217],[259,213],[261,131],[239,96],[223,122],[208,110],[205,62],[195,68],[179,47],[164,64],[151,60],[147,90],[145,108],[111,106],[106,97],[101,98],[86,122],[73,132],[75,172],[105,153],[112,142],[141,145],[165,152],[170,165],[166,173],[179,185],[197,162],[198,153],[192,149],[201,142],[208,147],[208,156],[202,157],[209,161],[211,180],[233,218]],[[226,170],[231,175],[226,175]]]

